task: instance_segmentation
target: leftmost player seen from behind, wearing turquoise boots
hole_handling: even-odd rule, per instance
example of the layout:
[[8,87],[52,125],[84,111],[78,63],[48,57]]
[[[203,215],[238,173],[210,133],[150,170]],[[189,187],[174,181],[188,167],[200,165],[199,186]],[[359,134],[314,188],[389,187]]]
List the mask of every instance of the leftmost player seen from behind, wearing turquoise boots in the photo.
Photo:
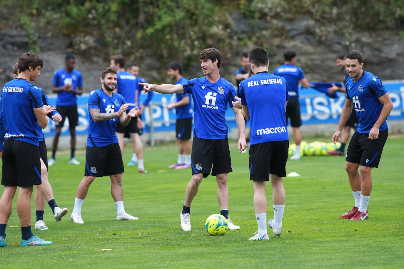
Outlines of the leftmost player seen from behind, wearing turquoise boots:
[[[2,180],[4,192],[0,199],[0,247],[6,244],[6,225],[13,210],[12,201],[18,188],[17,213],[21,223],[21,246],[49,245],[32,234],[31,196],[34,185],[41,184],[41,163],[36,122],[48,125],[46,114],[55,108],[42,106],[42,94],[31,81],[40,75],[43,60],[34,52],[18,59],[20,74],[2,89],[4,129]],[[18,118],[18,121],[16,121]]]

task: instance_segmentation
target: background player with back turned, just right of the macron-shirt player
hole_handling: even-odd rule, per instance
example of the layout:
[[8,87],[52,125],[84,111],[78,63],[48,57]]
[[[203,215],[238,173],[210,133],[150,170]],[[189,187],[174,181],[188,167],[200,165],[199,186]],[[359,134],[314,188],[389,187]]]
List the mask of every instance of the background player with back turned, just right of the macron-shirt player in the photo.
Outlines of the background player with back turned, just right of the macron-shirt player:
[[286,122],[290,118],[290,125],[293,129],[295,137],[296,151],[290,160],[300,160],[300,142],[302,141],[302,135],[300,132],[300,126],[302,120],[300,117],[300,105],[299,105],[299,82],[303,84],[304,88],[309,88],[309,81],[305,78],[303,69],[295,66],[296,52],[292,50],[286,50],[283,53],[285,59],[284,65],[277,67],[274,70],[274,75],[284,77],[289,85],[289,101],[286,106]]

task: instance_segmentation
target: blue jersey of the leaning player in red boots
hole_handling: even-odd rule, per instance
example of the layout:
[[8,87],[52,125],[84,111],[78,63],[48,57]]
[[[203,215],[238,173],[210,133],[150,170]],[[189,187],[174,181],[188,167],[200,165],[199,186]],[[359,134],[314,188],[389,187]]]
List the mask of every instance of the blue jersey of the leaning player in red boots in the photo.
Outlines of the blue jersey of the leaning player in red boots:
[[[352,100],[353,109],[358,116],[358,133],[369,133],[377,119],[379,119],[383,104],[379,97],[387,94],[381,80],[370,72],[363,71],[362,76],[356,82],[349,77],[345,89],[347,99]],[[379,131],[387,129],[387,121],[379,127]]]

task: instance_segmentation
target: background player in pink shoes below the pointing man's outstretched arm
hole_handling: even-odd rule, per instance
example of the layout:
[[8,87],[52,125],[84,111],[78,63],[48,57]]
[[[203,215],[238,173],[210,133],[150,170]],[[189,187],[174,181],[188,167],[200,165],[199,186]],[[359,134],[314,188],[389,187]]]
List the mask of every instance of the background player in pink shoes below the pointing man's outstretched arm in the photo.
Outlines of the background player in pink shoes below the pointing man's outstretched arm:
[[[175,84],[187,82],[182,75],[182,65],[179,62],[171,62],[167,66],[167,75],[175,81]],[[167,105],[168,109],[175,108],[175,132],[178,143],[177,163],[168,168],[185,169],[191,167],[191,138],[192,117],[194,109],[191,103],[191,94],[175,94],[175,101]]]

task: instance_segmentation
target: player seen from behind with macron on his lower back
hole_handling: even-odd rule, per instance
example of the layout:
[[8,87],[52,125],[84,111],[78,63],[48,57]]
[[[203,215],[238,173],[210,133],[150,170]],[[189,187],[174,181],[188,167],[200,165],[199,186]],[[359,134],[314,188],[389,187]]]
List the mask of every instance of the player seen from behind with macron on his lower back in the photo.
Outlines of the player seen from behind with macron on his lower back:
[[[268,240],[267,198],[265,189],[271,181],[274,219],[268,226],[274,236],[282,233],[285,208],[283,177],[286,177],[289,136],[285,111],[288,102],[288,84],[282,77],[268,72],[268,52],[264,48],[250,51],[252,77],[240,83],[240,98],[233,104],[251,121],[250,180],[254,185],[254,209],[258,231],[250,240]],[[263,117],[271,115],[271,117]]]

